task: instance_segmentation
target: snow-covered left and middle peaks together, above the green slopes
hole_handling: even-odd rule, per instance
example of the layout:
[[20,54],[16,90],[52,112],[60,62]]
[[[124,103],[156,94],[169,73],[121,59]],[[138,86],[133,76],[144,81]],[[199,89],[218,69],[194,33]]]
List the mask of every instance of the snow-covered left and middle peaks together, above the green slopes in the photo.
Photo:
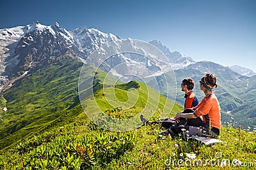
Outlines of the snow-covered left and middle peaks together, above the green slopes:
[[[117,55],[109,56],[100,68],[113,76],[120,76],[120,74],[124,74],[124,71],[125,74],[138,74],[143,73],[142,70],[148,70],[150,73],[170,70],[168,60],[157,59],[157,56],[145,53],[142,48],[136,48],[132,39],[125,41],[125,45],[137,51],[120,53],[122,48],[122,46],[118,46],[120,39],[119,36],[86,27],[79,27],[68,32],[58,23],[45,26],[34,22],[26,26],[1,29],[0,73],[2,84],[7,80],[7,76],[11,78],[38,66],[38,64],[44,65],[43,63],[51,63],[52,60],[60,60],[67,53],[72,53],[73,57],[84,61],[92,52],[110,42],[115,43],[116,49],[114,50]],[[152,60],[148,60],[148,57]]]

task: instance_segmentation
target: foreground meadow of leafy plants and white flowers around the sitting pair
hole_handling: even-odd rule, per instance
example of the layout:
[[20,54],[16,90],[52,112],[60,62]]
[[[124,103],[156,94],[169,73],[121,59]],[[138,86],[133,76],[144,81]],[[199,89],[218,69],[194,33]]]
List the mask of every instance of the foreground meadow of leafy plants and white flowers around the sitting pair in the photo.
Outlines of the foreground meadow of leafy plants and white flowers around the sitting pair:
[[[73,108],[72,110],[74,110]],[[223,143],[160,136],[161,125],[105,131],[81,113],[0,153],[1,169],[255,169],[255,132],[223,127]],[[194,158],[193,158],[194,157]]]

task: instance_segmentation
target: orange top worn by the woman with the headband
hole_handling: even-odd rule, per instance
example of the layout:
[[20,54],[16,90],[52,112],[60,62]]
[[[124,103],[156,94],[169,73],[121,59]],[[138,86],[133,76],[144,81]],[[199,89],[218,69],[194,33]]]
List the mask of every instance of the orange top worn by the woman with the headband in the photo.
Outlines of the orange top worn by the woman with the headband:
[[204,123],[210,127],[221,128],[220,104],[214,93],[205,96],[202,101],[193,108],[197,117],[203,116]]

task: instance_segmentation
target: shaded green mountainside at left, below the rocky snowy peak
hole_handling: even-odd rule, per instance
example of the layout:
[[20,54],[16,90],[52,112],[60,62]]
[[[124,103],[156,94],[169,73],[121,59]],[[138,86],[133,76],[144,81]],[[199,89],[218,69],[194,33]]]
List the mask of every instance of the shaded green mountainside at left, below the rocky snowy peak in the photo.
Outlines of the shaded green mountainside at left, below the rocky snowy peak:
[[[81,63],[74,60],[30,73],[4,93],[8,111],[0,122],[0,148],[36,134],[76,103]],[[76,116],[76,115],[74,115]]]

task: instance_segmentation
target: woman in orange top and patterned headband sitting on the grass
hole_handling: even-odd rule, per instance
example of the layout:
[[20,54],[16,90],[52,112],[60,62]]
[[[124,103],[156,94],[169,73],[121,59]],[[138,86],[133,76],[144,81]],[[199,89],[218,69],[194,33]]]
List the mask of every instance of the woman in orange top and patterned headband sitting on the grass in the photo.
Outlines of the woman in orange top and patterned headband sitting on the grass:
[[[205,74],[200,81],[200,90],[204,91],[205,97],[195,108],[184,110],[182,113],[177,113],[177,115],[175,115],[175,122],[177,125],[170,127],[170,129],[163,133],[173,135],[186,132],[189,136],[202,136],[203,134],[218,136],[221,128],[220,104],[213,93],[213,88],[216,88],[217,86],[216,76],[211,73]],[[193,124],[179,125],[180,118],[194,119],[200,116],[202,116],[204,121],[200,127]]]

